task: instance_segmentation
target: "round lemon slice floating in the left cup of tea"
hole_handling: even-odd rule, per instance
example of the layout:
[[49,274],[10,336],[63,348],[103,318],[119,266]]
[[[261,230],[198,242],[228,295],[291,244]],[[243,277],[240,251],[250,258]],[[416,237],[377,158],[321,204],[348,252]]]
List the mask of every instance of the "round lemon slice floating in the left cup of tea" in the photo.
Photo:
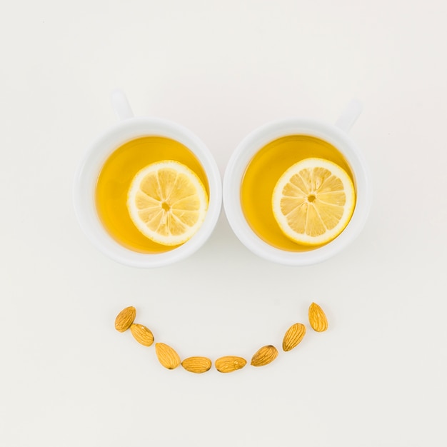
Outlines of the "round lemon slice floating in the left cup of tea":
[[166,246],[189,241],[204,222],[208,195],[199,177],[178,161],[159,161],[131,181],[127,209],[136,228]]

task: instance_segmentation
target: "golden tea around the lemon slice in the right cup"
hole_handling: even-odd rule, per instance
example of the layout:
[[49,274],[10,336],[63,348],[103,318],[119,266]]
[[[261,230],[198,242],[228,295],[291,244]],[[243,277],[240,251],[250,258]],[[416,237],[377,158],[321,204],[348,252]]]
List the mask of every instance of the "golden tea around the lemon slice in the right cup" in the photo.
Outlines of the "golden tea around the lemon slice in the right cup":
[[251,229],[266,243],[286,251],[308,251],[316,246],[291,241],[279,228],[272,210],[272,194],[278,179],[293,164],[310,157],[340,166],[354,182],[348,162],[327,141],[308,135],[289,135],[271,141],[251,159],[241,184],[241,206]]

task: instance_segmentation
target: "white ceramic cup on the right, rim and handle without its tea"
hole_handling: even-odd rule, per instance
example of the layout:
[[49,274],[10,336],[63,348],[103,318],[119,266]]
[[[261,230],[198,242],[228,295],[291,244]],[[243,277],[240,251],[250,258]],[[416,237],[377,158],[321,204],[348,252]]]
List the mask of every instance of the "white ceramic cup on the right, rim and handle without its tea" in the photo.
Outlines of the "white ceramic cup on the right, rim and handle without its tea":
[[[311,119],[281,119],[261,126],[241,141],[226,167],[224,209],[234,233],[253,253],[276,263],[305,266],[331,258],[358,236],[372,202],[371,181],[366,162],[356,144],[348,137],[348,131],[361,114],[361,110],[361,103],[353,100],[335,125]],[[356,206],[348,226],[333,241],[308,251],[287,251],[264,241],[248,224],[241,204],[241,184],[253,156],[271,141],[291,135],[314,136],[335,146],[351,168],[356,189]]]

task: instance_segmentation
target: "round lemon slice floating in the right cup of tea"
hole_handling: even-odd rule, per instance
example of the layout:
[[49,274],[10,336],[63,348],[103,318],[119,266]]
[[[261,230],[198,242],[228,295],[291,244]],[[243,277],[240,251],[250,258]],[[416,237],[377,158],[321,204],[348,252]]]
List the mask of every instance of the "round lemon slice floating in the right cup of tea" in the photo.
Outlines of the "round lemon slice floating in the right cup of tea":
[[321,245],[346,228],[355,201],[353,183],[340,166],[324,159],[304,159],[276,183],[273,216],[292,241]]

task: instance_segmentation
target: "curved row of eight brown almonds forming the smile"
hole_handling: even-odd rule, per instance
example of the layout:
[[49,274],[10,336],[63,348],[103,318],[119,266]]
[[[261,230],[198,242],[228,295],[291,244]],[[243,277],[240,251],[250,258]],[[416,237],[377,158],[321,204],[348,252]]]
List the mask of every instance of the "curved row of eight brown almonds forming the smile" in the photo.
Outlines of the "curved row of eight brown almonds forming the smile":
[[[129,306],[123,309],[115,319],[116,331],[125,332],[130,329],[132,335],[143,346],[151,346],[154,343],[154,334],[149,328],[139,323],[134,323],[136,317],[136,308]],[[308,309],[308,319],[316,332],[326,331],[328,328],[328,320],[323,309],[316,303],[311,303]],[[291,351],[298,346],[303,337],[306,335],[306,326],[302,323],[293,324],[283,338],[283,351]],[[162,366],[168,369],[175,369],[183,366],[186,371],[191,373],[205,373],[209,371],[212,362],[207,357],[189,357],[181,361],[180,356],[171,346],[165,343],[155,343],[156,356]],[[278,356],[278,349],[275,346],[267,345],[258,349],[251,358],[252,366],[265,366],[271,363]],[[221,373],[231,373],[246,366],[245,358],[238,356],[224,356],[218,358],[214,362],[217,371]]]

